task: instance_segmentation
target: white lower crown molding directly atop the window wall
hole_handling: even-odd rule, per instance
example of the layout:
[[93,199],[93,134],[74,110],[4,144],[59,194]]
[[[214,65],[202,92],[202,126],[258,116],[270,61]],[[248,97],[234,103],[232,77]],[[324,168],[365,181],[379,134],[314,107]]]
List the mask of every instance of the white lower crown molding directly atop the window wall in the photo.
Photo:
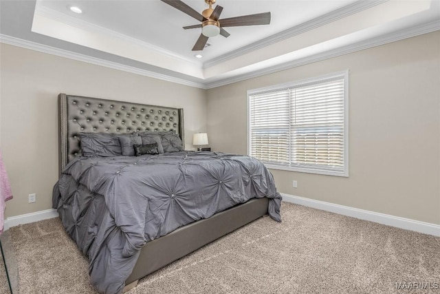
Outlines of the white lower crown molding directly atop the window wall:
[[267,67],[263,70],[256,70],[254,72],[250,72],[248,74],[241,74],[239,76],[233,76],[231,78],[224,78],[219,81],[214,81],[212,83],[204,84],[205,89],[212,89],[214,87],[221,87],[223,85],[229,85],[232,83],[245,81],[250,78],[256,78],[259,76],[264,76],[265,74],[273,74],[275,72],[281,72],[283,70],[289,70],[294,67],[299,67],[302,65],[307,65],[309,63],[314,63],[317,61],[322,61],[325,59],[331,59],[333,57],[341,56],[344,54],[353,53],[356,51],[373,48],[376,46],[384,45],[387,43],[393,43],[395,41],[400,41],[403,39],[411,38],[412,36],[419,36],[421,34],[428,34],[430,32],[434,32],[440,30],[440,20],[431,21],[430,23],[423,23],[421,25],[417,25],[414,28],[399,30],[397,32],[393,32],[390,34],[385,34],[383,36],[378,36],[373,39],[369,39],[366,41],[354,43],[351,45],[347,45],[341,48],[337,48],[335,50],[330,50],[327,52],[322,52],[320,54],[315,54],[312,56],[307,56],[303,59],[297,59],[294,61],[290,61],[287,63],[283,63],[280,65],[275,65],[273,67]]

